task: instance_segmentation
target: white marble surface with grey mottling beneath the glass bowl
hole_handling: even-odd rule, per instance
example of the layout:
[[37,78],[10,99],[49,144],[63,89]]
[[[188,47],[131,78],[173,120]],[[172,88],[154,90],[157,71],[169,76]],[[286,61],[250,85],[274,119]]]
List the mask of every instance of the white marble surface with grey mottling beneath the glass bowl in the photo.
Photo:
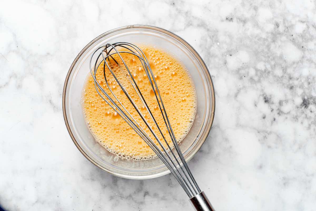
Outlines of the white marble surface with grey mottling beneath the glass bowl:
[[[77,53],[129,24],[180,35],[216,90],[189,162],[218,211],[315,210],[315,1],[3,1],[0,204],[12,210],[192,210],[176,180],[114,177],[77,150],[62,89]],[[117,18],[119,16],[119,18]]]

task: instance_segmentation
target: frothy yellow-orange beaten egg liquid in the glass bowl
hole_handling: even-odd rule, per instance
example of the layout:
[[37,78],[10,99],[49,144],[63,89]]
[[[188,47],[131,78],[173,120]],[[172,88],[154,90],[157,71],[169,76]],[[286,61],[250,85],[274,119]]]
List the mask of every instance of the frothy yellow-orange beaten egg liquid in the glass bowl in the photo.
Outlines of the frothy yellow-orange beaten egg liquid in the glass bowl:
[[[146,55],[149,65],[154,73],[162,102],[165,106],[174,135],[179,143],[189,132],[196,114],[197,97],[193,80],[185,67],[171,54],[151,46],[143,45],[139,47]],[[155,117],[165,139],[171,148],[173,148],[173,143],[161,115],[154,90],[151,88],[149,79],[141,62],[136,56],[130,53],[120,54],[131,71],[132,77],[135,79],[137,86]],[[119,64],[116,64],[114,60],[110,58],[107,63],[111,67],[111,70],[115,73],[119,82],[125,87],[131,98],[134,100],[161,143],[168,149],[161,133],[155,126],[154,121],[151,119],[148,111],[131,85],[131,78],[129,79],[126,76],[128,72],[122,60],[119,58],[119,55],[113,54],[113,58]],[[101,63],[97,69],[97,82],[119,105],[106,85],[103,75],[103,64],[104,63]],[[108,84],[115,96],[131,113],[149,137],[154,140],[155,144],[159,146],[157,140],[154,138],[149,128],[146,127],[140,115],[138,115],[137,111],[133,108],[131,102],[125,96],[107,67],[105,73]],[[106,98],[105,95],[104,97]],[[94,80],[90,73],[86,78],[82,91],[82,108],[90,132],[93,134],[95,140],[109,152],[112,152],[121,158],[133,160],[144,160],[157,157],[155,152],[146,144],[146,142],[100,97],[95,90]],[[120,108],[122,107],[120,106]]]

